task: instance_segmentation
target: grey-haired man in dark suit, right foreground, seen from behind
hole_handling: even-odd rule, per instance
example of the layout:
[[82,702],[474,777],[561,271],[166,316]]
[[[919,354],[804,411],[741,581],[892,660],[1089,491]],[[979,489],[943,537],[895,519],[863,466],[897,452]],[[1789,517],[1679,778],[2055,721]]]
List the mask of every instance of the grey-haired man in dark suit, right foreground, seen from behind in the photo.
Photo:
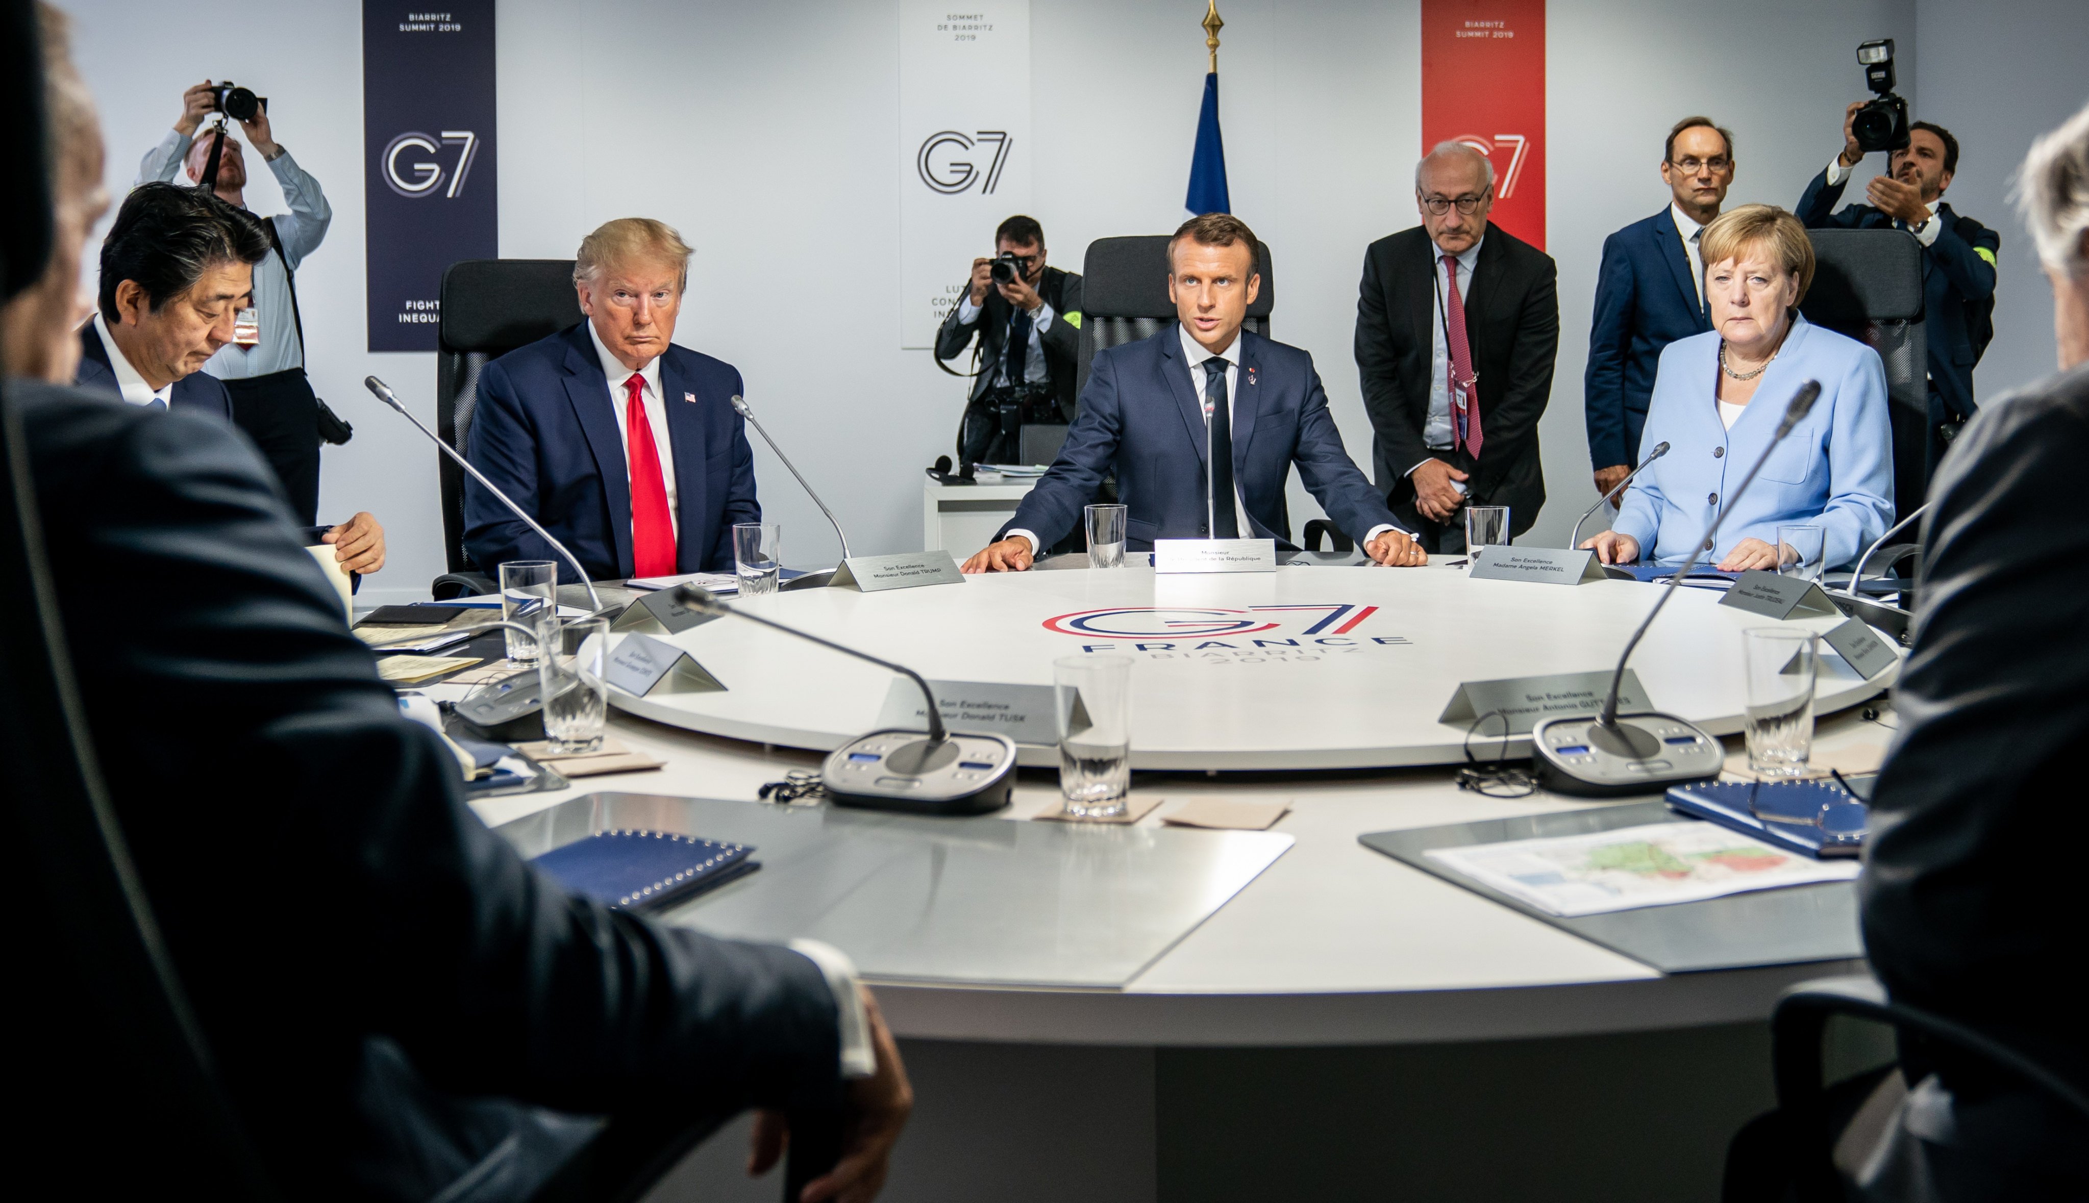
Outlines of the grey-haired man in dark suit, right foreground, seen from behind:
[[[2068,982],[2083,902],[2051,852],[2089,840],[2089,107],[2033,144],[2018,198],[2053,286],[2060,374],[1982,405],[1937,472],[1857,894],[1865,957],[1895,1002],[2081,1099],[2089,1028]],[[1855,1113],[1836,1136],[1842,1197],[2089,1199],[2083,1113],[1962,1042],[1903,1028],[1897,1069],[1836,1090]],[[1765,1151],[1820,1138],[1778,1119],[1736,1138],[1730,1201],[1771,1197],[1732,1188]]]

